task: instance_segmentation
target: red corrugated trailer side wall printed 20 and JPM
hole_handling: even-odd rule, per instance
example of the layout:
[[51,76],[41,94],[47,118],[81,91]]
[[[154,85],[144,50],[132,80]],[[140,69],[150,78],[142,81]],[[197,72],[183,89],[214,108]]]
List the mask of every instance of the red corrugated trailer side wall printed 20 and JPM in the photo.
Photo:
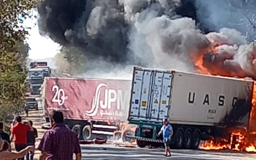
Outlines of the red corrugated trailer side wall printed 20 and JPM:
[[67,119],[127,121],[131,81],[89,78],[44,80],[44,116],[61,110]]

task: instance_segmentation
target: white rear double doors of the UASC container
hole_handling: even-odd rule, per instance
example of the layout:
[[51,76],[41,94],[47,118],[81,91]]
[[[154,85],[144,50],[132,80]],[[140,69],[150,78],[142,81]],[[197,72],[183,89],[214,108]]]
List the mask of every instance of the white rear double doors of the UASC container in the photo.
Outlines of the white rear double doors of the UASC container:
[[162,122],[168,117],[172,73],[135,68],[128,120]]

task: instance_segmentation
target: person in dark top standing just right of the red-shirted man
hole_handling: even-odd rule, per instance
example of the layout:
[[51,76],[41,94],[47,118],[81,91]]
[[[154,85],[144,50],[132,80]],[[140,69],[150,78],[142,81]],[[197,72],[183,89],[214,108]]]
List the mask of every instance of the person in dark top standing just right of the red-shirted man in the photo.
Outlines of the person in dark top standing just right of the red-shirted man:
[[[35,146],[36,138],[38,137],[37,135],[37,130],[36,128],[33,127],[33,122],[28,121],[30,123],[30,126],[33,128],[33,131],[28,131],[27,133],[27,144],[30,146]],[[26,155],[27,160],[33,160],[34,158],[34,151],[30,151]]]

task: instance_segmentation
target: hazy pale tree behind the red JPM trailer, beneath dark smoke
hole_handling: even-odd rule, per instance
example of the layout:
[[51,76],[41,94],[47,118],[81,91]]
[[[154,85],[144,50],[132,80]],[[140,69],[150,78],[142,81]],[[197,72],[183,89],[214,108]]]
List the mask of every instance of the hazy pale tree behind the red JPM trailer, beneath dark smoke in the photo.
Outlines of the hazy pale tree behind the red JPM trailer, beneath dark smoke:
[[[75,53],[75,54],[73,54]],[[55,56],[55,66],[60,74],[78,75],[86,71],[86,58],[82,51],[75,47],[62,46]]]

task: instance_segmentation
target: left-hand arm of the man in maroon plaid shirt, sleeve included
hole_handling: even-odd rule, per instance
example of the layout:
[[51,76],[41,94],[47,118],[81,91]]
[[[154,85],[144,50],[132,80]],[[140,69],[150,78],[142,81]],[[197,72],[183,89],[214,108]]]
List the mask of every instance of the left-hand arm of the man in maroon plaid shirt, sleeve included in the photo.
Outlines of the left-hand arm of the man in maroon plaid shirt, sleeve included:
[[43,138],[41,139],[37,149],[41,151],[39,160],[45,160],[47,157],[47,153],[52,149],[52,135],[50,131],[46,131],[44,133]]

